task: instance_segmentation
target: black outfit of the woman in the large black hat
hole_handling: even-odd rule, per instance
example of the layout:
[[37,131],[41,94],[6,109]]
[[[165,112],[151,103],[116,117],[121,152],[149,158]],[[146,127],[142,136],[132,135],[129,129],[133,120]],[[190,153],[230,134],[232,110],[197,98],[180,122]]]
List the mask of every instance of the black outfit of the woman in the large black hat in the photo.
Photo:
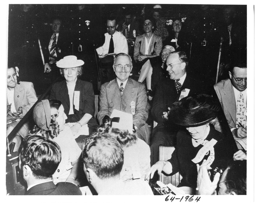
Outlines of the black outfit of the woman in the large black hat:
[[[211,141],[212,139],[217,140],[217,143],[213,146],[214,148],[214,160],[211,164],[212,169],[218,167],[219,169],[226,169],[228,161],[233,160],[235,151],[233,150],[230,143],[226,139],[226,136],[221,134],[219,131],[210,127],[210,132],[205,140]],[[172,175],[180,172],[183,177],[178,187],[188,186],[196,188],[196,163],[191,161],[196,157],[198,151],[203,148],[203,145],[194,147],[192,144],[192,138],[187,130],[180,130],[177,134],[177,145],[172,153],[172,157],[169,162],[172,164]],[[209,157],[210,153],[206,153],[204,158],[199,162],[202,164],[204,159]]]

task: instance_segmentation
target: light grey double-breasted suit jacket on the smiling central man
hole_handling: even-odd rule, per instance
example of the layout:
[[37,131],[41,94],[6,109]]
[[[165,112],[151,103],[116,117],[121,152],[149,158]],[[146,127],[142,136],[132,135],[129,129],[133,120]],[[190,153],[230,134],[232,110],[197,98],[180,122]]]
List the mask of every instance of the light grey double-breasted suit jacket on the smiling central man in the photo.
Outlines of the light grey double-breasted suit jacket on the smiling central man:
[[[116,79],[104,83],[100,87],[100,111],[98,120],[102,124],[104,115],[110,116],[114,109],[125,113],[132,113],[131,102],[135,102],[135,114],[133,115],[133,124],[138,127],[142,137],[148,143],[148,100],[146,88],[143,83],[128,79],[123,98],[121,98],[120,90]],[[145,137],[147,138],[145,138]]]

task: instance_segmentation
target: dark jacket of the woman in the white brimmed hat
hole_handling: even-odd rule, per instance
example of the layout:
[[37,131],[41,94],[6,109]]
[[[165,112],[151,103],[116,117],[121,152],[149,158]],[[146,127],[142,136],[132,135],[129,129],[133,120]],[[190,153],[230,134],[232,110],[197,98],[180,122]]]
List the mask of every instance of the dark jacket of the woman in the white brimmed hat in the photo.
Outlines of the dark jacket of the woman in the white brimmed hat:
[[55,84],[52,85],[50,99],[57,99],[61,101],[64,107],[64,112],[68,117],[66,122],[78,122],[84,116],[84,114],[88,113],[92,115],[92,118],[87,123],[88,127],[95,129],[98,126],[98,124],[96,122],[96,118],[94,117],[95,98],[94,98],[92,83],[77,79],[75,91],[80,91],[80,95],[79,95],[79,110],[75,109],[75,105],[73,103],[72,108],[74,111],[74,115],[68,115],[70,102],[69,102],[69,96],[68,96],[68,87],[65,80],[62,82],[56,82]]

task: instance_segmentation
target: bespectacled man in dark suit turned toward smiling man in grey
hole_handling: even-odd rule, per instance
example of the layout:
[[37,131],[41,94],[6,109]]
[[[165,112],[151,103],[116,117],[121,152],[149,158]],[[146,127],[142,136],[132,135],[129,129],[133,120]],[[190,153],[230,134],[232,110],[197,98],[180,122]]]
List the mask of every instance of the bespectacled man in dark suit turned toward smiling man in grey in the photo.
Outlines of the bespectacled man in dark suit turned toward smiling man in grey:
[[157,122],[151,137],[151,166],[158,161],[159,145],[175,145],[175,135],[179,126],[168,121],[168,108],[181,98],[203,92],[201,83],[189,77],[186,72],[188,57],[185,52],[172,52],[166,60],[166,65],[170,78],[158,83],[151,110]]

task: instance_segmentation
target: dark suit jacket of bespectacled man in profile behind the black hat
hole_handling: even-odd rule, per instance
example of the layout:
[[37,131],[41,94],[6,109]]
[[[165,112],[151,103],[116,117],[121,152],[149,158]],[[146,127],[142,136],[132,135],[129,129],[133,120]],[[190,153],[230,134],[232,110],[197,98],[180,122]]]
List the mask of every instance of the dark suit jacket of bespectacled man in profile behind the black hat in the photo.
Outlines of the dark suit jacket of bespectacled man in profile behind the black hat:
[[175,80],[171,80],[168,77],[157,85],[151,110],[154,120],[158,123],[157,126],[166,123],[162,118],[163,112],[167,112],[168,107],[170,107],[175,101],[179,100],[181,90],[190,89],[188,95],[204,92],[202,90],[202,84],[198,80],[194,80],[189,77],[188,73],[179,93],[177,93],[174,83]]

